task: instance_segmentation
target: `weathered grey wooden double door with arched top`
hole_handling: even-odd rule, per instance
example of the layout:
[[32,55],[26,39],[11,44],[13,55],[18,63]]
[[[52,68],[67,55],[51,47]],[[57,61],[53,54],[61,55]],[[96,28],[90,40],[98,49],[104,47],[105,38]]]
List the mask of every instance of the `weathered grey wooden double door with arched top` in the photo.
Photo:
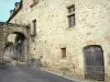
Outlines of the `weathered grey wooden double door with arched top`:
[[103,50],[99,45],[90,45],[84,48],[85,78],[105,81]]

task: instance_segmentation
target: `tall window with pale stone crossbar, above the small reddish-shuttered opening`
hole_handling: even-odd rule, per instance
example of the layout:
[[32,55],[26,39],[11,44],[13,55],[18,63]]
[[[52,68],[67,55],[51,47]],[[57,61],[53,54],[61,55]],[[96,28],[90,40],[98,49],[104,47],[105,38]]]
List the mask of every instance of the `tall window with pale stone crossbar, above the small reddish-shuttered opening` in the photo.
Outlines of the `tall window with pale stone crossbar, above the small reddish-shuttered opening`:
[[68,7],[68,26],[75,26],[75,5]]

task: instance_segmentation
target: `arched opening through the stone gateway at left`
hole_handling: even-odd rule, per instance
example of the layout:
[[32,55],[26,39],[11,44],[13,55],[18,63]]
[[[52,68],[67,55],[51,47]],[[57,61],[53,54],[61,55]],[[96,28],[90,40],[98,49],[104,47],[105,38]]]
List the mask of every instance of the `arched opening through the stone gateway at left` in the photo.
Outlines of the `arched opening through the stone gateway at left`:
[[23,33],[13,32],[9,34],[7,37],[3,58],[11,57],[12,59],[16,59],[19,61],[25,61],[25,39],[26,38]]

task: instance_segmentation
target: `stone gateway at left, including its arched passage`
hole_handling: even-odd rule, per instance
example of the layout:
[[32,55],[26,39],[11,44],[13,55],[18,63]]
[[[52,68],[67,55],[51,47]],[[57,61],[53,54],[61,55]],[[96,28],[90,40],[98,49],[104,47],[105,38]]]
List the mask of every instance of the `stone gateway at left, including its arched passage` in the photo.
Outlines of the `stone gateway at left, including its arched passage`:
[[[14,58],[19,57],[20,61],[25,62],[29,51],[29,34],[30,27],[25,25],[16,25],[11,23],[0,22],[0,60],[3,59],[6,54],[12,55]],[[8,37],[15,34],[18,37],[14,43],[9,42]],[[8,51],[8,52],[7,52]]]

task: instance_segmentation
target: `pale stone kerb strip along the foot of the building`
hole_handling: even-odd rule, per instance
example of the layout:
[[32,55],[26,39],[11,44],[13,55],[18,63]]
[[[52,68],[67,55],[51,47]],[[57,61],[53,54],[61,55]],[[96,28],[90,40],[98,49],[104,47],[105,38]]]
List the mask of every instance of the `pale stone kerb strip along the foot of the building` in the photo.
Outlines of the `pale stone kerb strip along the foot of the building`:
[[56,74],[58,77],[63,77],[64,79],[68,79],[68,80],[75,81],[75,82],[103,82],[103,81],[90,81],[90,80],[81,80],[81,79],[76,79],[76,78],[69,78],[67,75],[63,75],[63,74],[57,73],[57,72],[48,71],[44,68],[41,68],[41,70],[45,71],[45,72],[48,72],[48,73],[52,73],[52,74]]

